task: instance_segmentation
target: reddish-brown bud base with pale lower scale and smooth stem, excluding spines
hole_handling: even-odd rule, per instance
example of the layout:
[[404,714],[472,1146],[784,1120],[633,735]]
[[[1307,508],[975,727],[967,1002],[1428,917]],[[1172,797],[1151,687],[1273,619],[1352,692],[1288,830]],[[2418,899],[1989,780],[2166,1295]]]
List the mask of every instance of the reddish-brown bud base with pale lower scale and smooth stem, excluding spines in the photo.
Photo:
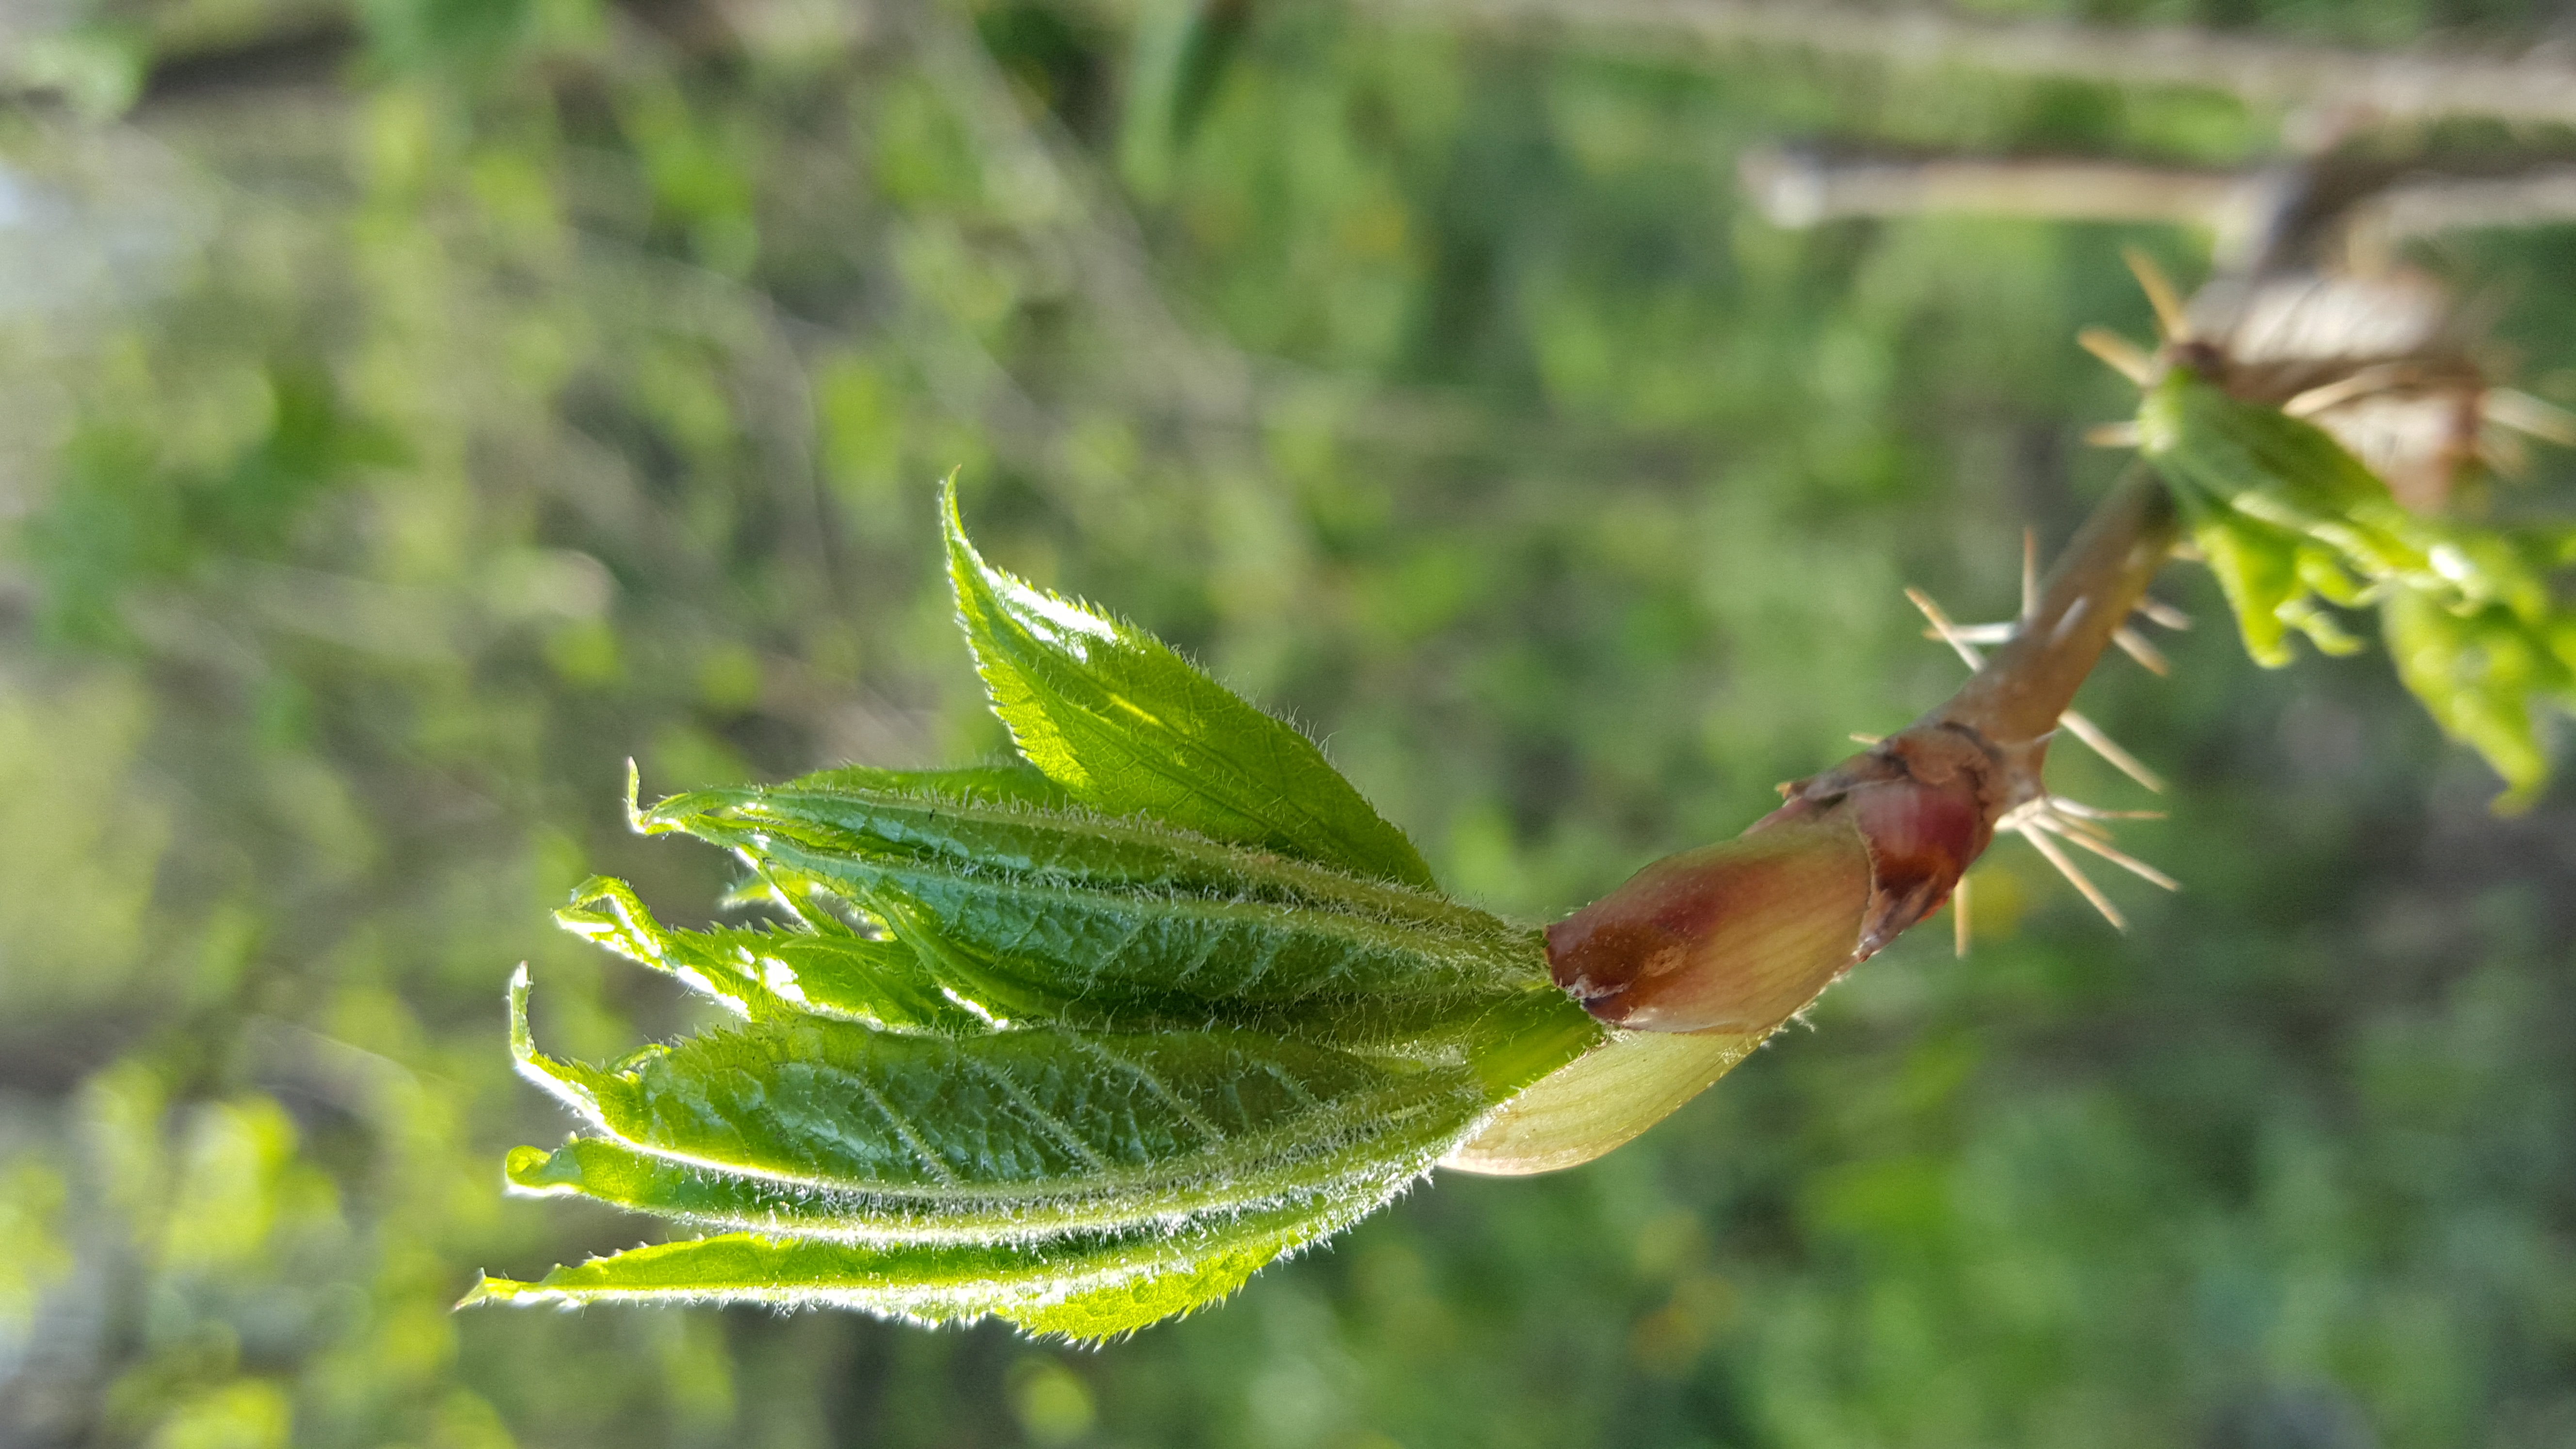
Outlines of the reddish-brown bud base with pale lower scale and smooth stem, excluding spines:
[[1741,838],[1656,861],[1551,926],[1556,982],[1631,1031],[1502,1104],[1443,1165],[1548,1173],[1618,1147],[1950,900],[1996,822],[2045,799],[2048,740],[2177,526],[2154,477],[2120,485],[1958,696],[1785,786]]

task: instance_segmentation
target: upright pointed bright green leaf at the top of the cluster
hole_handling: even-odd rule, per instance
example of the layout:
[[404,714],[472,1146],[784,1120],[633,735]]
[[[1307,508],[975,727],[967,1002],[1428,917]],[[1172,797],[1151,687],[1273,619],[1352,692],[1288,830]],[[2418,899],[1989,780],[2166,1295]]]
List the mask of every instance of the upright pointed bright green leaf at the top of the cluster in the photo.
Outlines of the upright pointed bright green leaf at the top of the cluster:
[[1432,890],[1412,841],[1306,735],[1244,704],[1162,639],[987,565],[940,495],[948,580],[992,709],[1033,766],[1105,815],[1151,815]]

